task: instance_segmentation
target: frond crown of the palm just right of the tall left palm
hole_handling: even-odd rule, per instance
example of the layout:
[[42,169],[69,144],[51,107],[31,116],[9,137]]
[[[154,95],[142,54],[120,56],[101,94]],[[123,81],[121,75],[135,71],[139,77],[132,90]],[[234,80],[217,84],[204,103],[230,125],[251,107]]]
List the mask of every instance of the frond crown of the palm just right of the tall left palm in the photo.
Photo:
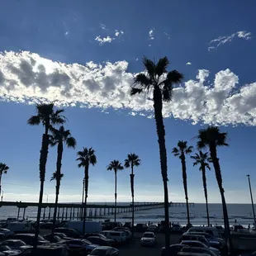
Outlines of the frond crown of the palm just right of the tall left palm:
[[50,145],[55,146],[64,142],[68,148],[75,148],[77,145],[76,140],[71,136],[70,130],[65,130],[64,126],[60,126],[59,130],[52,129],[52,135],[50,135]]

